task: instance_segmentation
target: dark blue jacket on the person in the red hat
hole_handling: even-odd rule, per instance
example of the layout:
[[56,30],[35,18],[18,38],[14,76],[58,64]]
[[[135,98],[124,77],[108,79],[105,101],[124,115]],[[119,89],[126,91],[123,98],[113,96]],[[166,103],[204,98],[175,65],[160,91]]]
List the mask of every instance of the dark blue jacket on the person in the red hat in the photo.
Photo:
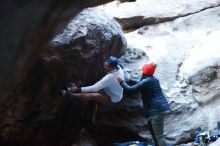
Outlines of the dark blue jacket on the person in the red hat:
[[141,92],[146,118],[170,110],[160,82],[154,76],[143,75],[141,81],[130,80],[129,83],[134,85],[129,86],[126,82],[120,84],[129,92]]

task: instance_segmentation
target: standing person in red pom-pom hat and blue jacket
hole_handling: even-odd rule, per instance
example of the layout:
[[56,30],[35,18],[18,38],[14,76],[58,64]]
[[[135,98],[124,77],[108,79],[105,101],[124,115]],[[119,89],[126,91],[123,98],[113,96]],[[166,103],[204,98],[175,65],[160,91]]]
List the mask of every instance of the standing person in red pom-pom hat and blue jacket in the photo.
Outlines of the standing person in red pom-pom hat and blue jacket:
[[142,94],[145,117],[148,119],[148,128],[152,135],[155,146],[167,146],[164,135],[164,117],[170,110],[167,99],[165,98],[159,80],[153,76],[156,64],[147,63],[142,67],[142,78],[140,81],[129,79],[131,86],[123,78],[117,78],[125,91],[137,92]]

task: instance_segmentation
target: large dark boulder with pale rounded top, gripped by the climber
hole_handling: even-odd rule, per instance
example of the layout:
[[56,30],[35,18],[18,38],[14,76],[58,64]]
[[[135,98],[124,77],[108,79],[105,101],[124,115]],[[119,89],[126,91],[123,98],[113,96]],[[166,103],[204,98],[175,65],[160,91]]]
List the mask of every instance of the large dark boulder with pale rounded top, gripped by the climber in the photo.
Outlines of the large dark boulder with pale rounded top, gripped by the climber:
[[[117,21],[92,8],[79,13],[2,102],[1,144],[73,144],[81,128],[88,126],[82,119],[86,103],[60,97],[59,90],[69,82],[93,84],[103,76],[103,59],[120,56],[125,49],[126,40]],[[97,126],[96,130],[101,129]]]

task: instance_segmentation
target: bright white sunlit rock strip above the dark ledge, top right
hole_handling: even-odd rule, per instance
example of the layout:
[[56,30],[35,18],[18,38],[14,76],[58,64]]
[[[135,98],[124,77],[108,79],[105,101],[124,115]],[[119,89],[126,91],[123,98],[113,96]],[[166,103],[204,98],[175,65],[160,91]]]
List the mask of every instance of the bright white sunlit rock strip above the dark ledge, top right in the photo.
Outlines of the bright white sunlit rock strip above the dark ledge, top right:
[[[219,0],[136,0],[130,3],[117,3],[117,1],[99,6],[107,14],[117,18],[145,17],[172,17],[193,13],[204,8],[215,7]],[[114,11],[112,11],[114,9]]]

